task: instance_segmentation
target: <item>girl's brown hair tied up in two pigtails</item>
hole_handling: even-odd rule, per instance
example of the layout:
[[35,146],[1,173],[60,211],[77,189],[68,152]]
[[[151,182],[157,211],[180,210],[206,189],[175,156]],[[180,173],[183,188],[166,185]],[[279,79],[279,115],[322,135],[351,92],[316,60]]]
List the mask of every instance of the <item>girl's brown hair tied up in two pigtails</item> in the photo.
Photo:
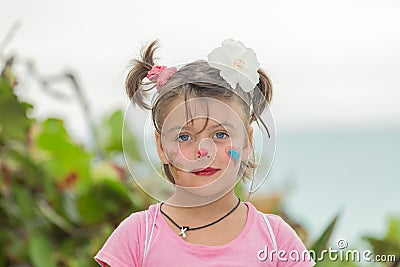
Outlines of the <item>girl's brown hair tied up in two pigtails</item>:
[[[126,92],[134,105],[151,110],[154,127],[158,132],[162,127],[164,116],[173,100],[209,97],[223,102],[235,101],[242,107],[244,125],[250,126],[252,122],[261,122],[268,131],[267,126],[260,118],[265,107],[272,99],[272,84],[267,74],[258,69],[260,76],[257,87],[252,93],[244,92],[240,86],[232,90],[229,84],[221,77],[220,71],[208,65],[204,60],[194,61],[181,67],[164,85],[155,98],[148,100],[148,91],[155,87],[155,82],[144,82],[147,72],[154,65],[154,53],[158,48],[158,40],[152,41],[141,51],[141,58],[132,61],[131,69],[126,78]],[[257,89],[258,88],[258,89]],[[189,109],[186,108],[188,111]],[[187,113],[187,116],[190,116]],[[164,115],[164,116],[163,116]],[[253,151],[252,151],[253,152]],[[252,179],[256,168],[254,153],[247,162],[241,162],[239,176]],[[174,182],[170,165],[164,164],[163,171],[168,180]]]

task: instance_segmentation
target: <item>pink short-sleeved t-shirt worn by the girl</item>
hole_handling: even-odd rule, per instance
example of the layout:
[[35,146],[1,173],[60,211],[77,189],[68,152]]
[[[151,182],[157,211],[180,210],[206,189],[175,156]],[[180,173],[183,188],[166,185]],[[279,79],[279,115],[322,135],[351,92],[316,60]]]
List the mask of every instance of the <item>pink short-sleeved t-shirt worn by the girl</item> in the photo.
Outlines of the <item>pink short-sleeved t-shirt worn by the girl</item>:
[[[95,256],[105,266],[313,266],[300,238],[279,216],[262,214],[250,202],[242,232],[221,246],[191,244],[169,227],[159,211],[160,203],[126,218]],[[266,216],[266,220],[264,218]],[[144,257],[145,243],[147,254]],[[142,265],[143,264],[143,265]]]

